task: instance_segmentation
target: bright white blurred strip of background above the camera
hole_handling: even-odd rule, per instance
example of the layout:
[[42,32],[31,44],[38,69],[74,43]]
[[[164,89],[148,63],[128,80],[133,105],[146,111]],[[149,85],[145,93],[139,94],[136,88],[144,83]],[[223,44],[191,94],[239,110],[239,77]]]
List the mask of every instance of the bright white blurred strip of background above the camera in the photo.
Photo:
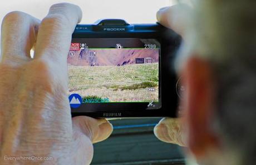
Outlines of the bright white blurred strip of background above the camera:
[[68,2],[77,4],[83,11],[83,24],[100,18],[122,18],[129,23],[155,23],[156,12],[165,6],[189,0],[8,0],[0,2],[0,19],[11,11],[22,11],[42,19],[52,4]]

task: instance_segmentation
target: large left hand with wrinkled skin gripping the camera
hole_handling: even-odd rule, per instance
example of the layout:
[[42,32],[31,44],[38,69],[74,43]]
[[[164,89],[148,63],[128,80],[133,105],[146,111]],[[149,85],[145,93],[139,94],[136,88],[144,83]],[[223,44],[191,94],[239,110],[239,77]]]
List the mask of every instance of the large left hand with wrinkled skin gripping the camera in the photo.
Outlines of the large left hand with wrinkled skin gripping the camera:
[[[105,119],[71,118],[67,54],[81,17],[81,9],[68,3],[53,5],[42,22],[22,12],[4,17],[0,164],[89,164],[92,143],[110,136],[112,125]],[[9,156],[43,159],[7,161]]]

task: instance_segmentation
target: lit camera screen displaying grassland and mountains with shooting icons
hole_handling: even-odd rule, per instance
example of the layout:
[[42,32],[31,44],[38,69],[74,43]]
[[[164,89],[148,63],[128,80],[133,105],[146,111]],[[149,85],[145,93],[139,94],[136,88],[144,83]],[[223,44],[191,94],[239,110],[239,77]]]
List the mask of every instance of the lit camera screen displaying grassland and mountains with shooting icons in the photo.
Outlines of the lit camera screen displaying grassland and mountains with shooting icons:
[[140,38],[73,38],[69,93],[82,103],[159,102],[160,43]]

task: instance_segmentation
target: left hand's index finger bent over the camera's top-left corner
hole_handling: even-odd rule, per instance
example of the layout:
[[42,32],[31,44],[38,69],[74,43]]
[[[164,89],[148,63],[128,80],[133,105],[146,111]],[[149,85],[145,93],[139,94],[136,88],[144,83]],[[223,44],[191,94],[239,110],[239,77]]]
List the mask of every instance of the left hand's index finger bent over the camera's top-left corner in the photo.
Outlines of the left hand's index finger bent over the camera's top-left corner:
[[35,59],[66,65],[72,33],[81,18],[80,7],[70,3],[53,4],[38,30]]

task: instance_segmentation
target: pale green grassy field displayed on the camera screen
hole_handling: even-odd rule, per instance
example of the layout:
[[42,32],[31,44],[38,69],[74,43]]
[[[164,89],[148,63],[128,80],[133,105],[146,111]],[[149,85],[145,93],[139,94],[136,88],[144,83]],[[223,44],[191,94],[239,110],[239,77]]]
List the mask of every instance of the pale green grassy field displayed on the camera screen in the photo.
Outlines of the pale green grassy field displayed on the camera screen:
[[[159,65],[68,66],[70,93],[118,101],[158,101]],[[155,87],[155,92],[148,92]],[[131,100],[132,99],[132,100]]]

